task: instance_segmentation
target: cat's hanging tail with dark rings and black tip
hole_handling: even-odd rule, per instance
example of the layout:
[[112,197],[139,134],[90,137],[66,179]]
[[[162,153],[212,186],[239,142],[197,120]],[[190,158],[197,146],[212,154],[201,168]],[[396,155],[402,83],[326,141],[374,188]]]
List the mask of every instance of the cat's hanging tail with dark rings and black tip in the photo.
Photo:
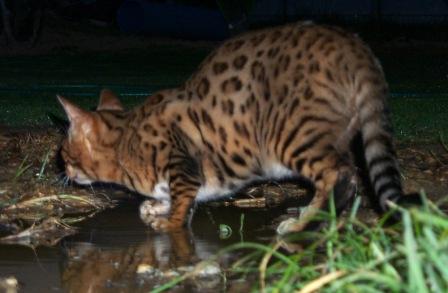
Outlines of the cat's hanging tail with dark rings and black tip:
[[386,104],[387,84],[380,68],[357,76],[356,106],[370,182],[383,211],[388,201],[403,196],[400,172],[392,144],[392,126]]

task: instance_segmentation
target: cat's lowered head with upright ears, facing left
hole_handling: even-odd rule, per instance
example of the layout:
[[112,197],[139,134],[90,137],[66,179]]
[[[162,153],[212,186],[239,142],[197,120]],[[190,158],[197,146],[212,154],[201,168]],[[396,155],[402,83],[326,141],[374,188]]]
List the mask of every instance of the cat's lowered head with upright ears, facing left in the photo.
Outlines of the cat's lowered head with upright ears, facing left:
[[70,122],[61,149],[66,175],[79,184],[117,182],[120,166],[115,146],[123,135],[125,117],[117,96],[103,90],[96,111],[61,96],[58,100]]

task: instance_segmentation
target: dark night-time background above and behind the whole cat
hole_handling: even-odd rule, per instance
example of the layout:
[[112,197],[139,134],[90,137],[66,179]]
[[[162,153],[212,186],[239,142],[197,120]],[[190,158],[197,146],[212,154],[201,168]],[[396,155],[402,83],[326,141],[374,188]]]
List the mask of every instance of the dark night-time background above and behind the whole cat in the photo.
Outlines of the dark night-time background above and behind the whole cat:
[[225,38],[313,20],[373,49],[398,138],[448,137],[448,0],[0,0],[0,8],[0,125],[50,125],[46,113],[63,115],[56,94],[92,108],[108,87],[136,105],[182,83]]

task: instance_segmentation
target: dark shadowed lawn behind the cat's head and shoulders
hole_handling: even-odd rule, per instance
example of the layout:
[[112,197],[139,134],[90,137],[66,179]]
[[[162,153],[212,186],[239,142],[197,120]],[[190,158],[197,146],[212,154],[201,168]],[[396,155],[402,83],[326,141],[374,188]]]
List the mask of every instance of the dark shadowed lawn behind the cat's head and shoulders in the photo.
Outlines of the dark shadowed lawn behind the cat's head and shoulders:
[[48,125],[47,112],[63,114],[56,94],[92,108],[103,87],[127,95],[124,103],[133,106],[142,95],[186,80],[208,50],[161,45],[115,54],[1,58],[0,123]]

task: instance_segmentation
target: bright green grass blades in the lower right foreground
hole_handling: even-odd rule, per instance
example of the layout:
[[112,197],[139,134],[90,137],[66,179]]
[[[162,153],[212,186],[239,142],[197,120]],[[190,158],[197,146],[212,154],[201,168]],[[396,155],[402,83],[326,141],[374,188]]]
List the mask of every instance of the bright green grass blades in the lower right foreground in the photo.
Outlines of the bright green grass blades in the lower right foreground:
[[321,215],[326,228],[289,239],[304,243],[299,252],[283,252],[282,242],[241,242],[217,257],[229,251],[245,255],[226,278],[255,277],[252,290],[257,292],[448,292],[448,216],[422,197],[423,207],[400,209],[402,221],[395,226],[384,224],[387,216],[377,225],[359,221],[358,198],[347,218],[338,219],[333,208]]

